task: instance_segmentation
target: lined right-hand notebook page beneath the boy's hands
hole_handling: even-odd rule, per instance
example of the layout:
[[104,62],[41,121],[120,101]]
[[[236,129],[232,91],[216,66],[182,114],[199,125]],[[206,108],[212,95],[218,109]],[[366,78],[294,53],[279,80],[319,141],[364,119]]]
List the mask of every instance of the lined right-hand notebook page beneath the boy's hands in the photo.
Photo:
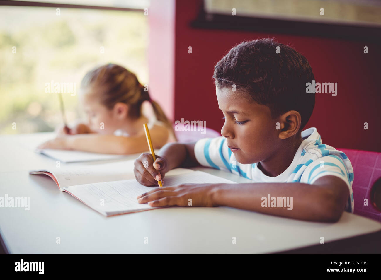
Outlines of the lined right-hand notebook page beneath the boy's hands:
[[[182,183],[235,183],[202,171],[165,176],[165,186],[176,186]],[[65,190],[79,200],[104,215],[130,213],[150,210],[147,203],[138,203],[136,197],[144,192],[153,190],[138,183],[136,179],[114,182],[102,182],[67,187]]]

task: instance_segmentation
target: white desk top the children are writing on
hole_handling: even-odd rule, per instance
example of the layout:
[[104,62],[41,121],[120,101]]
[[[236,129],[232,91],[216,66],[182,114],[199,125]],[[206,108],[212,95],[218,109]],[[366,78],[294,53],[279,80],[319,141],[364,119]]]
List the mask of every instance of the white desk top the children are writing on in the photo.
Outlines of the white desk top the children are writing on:
[[[29,148],[52,136],[0,136],[0,196],[30,197],[29,211],[0,208],[0,234],[10,253],[271,253],[318,245],[321,236],[327,243],[381,230],[381,223],[347,212],[333,224],[229,207],[171,207],[107,218],[60,192],[48,176],[28,174],[55,164]],[[210,168],[194,169],[249,181]]]

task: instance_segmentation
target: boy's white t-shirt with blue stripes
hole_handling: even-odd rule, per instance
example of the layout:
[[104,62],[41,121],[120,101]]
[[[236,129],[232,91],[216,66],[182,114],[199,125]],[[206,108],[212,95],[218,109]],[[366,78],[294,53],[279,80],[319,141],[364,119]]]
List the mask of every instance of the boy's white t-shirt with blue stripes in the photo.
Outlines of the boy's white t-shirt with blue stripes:
[[258,163],[241,164],[226,145],[226,138],[203,138],[196,142],[194,153],[202,166],[229,171],[253,182],[301,182],[313,184],[326,175],[337,176],[347,183],[349,197],[345,211],[353,213],[353,168],[347,156],[335,148],[322,144],[315,127],[302,131],[304,139],[288,168],[275,177],[270,177],[258,168]]

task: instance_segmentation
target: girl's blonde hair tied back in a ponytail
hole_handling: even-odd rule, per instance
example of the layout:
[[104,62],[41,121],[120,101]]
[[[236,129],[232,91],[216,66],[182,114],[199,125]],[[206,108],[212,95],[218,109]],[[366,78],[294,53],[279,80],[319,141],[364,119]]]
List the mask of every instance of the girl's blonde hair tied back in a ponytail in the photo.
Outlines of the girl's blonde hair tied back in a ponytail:
[[106,64],[88,72],[83,77],[81,88],[89,88],[90,92],[97,94],[101,104],[108,109],[114,108],[117,102],[128,104],[128,117],[137,119],[141,116],[141,105],[149,101],[154,109],[157,120],[165,123],[174,134],[172,123],[166,117],[160,105],[153,101],[148,91],[139,83],[136,75],[117,64]]

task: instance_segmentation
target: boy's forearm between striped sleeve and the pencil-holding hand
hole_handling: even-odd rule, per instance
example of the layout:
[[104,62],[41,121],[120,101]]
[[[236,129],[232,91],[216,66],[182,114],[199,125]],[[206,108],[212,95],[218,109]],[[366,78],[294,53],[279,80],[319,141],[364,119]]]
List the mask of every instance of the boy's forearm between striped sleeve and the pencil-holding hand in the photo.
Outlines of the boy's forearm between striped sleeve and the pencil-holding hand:
[[197,166],[199,163],[189,153],[193,145],[194,143],[167,143],[157,155],[166,159],[168,171],[176,167]]

